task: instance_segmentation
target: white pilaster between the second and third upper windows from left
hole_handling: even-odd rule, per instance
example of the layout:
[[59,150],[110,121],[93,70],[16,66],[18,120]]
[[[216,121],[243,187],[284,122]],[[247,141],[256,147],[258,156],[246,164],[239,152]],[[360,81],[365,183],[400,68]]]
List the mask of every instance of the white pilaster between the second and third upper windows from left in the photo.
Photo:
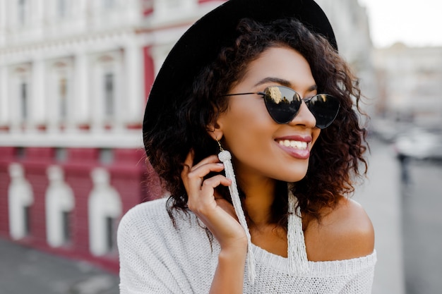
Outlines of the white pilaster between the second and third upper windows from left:
[[74,61],[72,120],[76,125],[90,123],[88,56],[76,54]]

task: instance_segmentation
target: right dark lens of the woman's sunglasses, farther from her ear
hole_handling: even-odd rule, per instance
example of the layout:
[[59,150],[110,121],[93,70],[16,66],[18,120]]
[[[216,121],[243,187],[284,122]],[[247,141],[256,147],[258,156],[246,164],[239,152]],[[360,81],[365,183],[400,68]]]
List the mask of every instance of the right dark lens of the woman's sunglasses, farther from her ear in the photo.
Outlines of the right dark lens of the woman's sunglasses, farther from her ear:
[[309,109],[316,118],[318,128],[327,128],[338,115],[340,104],[338,99],[328,94],[318,94],[309,102]]

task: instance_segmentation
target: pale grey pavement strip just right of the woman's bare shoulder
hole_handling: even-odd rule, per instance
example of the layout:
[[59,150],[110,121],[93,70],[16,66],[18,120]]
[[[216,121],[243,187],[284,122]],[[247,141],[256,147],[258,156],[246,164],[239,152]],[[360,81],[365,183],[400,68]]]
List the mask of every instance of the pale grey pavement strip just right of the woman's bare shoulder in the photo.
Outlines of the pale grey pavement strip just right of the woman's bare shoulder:
[[390,145],[371,138],[369,173],[354,200],[369,214],[378,256],[372,294],[404,294],[400,166]]

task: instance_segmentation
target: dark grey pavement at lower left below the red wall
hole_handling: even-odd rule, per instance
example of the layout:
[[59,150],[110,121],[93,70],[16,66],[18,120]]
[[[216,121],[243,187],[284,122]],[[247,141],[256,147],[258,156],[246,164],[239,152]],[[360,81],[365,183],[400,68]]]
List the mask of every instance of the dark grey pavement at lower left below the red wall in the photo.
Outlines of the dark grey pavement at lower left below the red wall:
[[118,277],[0,238],[1,294],[117,294]]

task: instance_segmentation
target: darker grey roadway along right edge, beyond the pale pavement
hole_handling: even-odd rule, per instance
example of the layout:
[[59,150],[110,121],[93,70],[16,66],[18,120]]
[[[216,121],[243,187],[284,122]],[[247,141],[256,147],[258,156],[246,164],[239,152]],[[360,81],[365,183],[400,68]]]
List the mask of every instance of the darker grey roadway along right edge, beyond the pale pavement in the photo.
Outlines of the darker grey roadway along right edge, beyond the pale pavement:
[[407,294],[442,293],[442,161],[410,161],[402,185]]

